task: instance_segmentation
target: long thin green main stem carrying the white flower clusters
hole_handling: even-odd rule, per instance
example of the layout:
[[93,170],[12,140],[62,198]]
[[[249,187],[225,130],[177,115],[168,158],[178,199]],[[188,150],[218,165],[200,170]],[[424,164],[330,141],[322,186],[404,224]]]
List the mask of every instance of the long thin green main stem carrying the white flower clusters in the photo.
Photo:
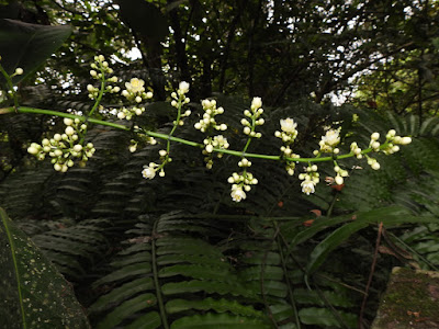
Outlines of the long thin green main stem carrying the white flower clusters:
[[[13,113],[15,111],[14,107],[4,107],[4,109],[0,109],[0,114],[7,114],[7,113]],[[70,117],[70,118],[79,118],[82,122],[90,122],[93,124],[98,124],[98,125],[103,125],[103,126],[109,126],[109,127],[113,127],[116,129],[122,129],[122,131],[127,131],[130,132],[131,128],[121,124],[115,124],[112,122],[106,122],[106,121],[102,121],[102,120],[97,120],[97,118],[87,118],[85,116],[81,115],[75,115],[75,114],[70,114],[70,113],[63,113],[63,112],[58,112],[58,111],[52,111],[52,110],[42,110],[42,109],[34,109],[34,107],[26,107],[26,106],[20,106],[16,109],[16,112],[20,113],[34,113],[34,114],[47,114],[47,115],[54,115],[54,116],[60,116],[60,117]],[[171,131],[171,133],[173,133],[175,128]],[[156,132],[150,132],[150,131],[138,131],[142,132],[148,136],[151,137],[156,137],[156,138],[160,138],[160,139],[165,139],[168,141],[177,141],[180,144],[184,144],[188,146],[192,146],[192,147],[198,147],[198,148],[204,148],[205,146],[201,143],[195,143],[195,141],[191,141],[191,140],[187,140],[187,139],[182,139],[182,138],[178,138],[178,137],[173,137],[171,135],[166,135],[166,134],[160,134],[160,133],[156,133]],[[384,143],[380,146],[380,149],[384,149],[386,148],[387,143]],[[322,157],[322,158],[289,158],[289,157],[281,157],[281,156],[269,156],[269,155],[260,155],[260,154],[247,154],[247,152],[243,152],[243,151],[236,151],[236,150],[229,150],[229,149],[224,149],[224,148],[214,148],[213,151],[215,152],[222,152],[222,154],[226,154],[226,155],[232,155],[232,156],[237,156],[237,157],[246,157],[246,158],[258,158],[258,159],[266,159],[266,160],[273,160],[273,161],[281,161],[281,160],[286,160],[286,161],[295,161],[295,162],[306,162],[306,163],[315,163],[315,162],[326,162],[326,161],[333,161],[334,157]],[[369,154],[373,151],[372,148],[368,148],[368,149],[363,149],[361,151],[362,155]],[[337,159],[346,159],[346,158],[352,158],[354,155],[352,152],[346,154],[346,155],[340,155],[337,156]]]

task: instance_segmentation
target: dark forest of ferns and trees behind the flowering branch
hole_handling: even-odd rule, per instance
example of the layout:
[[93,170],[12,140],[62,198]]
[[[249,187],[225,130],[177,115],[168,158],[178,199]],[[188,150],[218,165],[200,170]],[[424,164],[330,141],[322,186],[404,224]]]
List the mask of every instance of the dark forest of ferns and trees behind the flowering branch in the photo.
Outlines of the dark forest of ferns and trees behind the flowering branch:
[[[294,152],[308,156],[328,126],[341,127],[344,152],[374,132],[413,138],[378,156],[378,171],[347,159],[345,183],[311,195],[283,163],[255,159],[259,183],[234,203],[233,156],[207,170],[200,149],[172,143],[166,177],[149,181],[140,171],[160,141],[92,125],[95,155],[59,173],[26,149],[63,120],[0,112],[4,328],[369,328],[393,266],[439,266],[437,1],[0,4],[0,64],[24,69],[13,80],[20,106],[87,115],[90,64],[103,55],[121,87],[137,77],[154,90],[134,121],[148,131],[169,134],[169,95],[188,81],[184,139],[202,143],[193,125],[210,98],[239,150],[254,97],[266,121],[255,154],[280,154],[273,133],[285,117],[297,123]],[[115,95],[101,104],[97,120],[132,127],[109,110],[122,106]],[[334,177],[334,164],[319,172]]]

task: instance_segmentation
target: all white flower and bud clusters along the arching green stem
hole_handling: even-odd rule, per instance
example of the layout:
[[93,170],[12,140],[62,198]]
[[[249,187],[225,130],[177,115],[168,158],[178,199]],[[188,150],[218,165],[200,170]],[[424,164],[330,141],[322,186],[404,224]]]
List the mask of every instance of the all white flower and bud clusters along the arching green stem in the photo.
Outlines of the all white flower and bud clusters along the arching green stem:
[[[122,106],[116,111],[116,116],[120,120],[132,120],[134,116],[142,115],[145,112],[144,101],[153,98],[153,92],[145,89],[145,81],[138,78],[133,78],[130,82],[125,82],[125,89],[121,91],[117,86],[108,83],[117,82],[116,77],[109,77],[113,73],[113,70],[109,67],[102,55],[94,57],[95,63],[91,65],[90,75],[92,78],[101,81],[101,87],[95,88],[92,84],[87,87],[89,98],[95,100],[95,104],[89,115],[98,109],[100,105],[101,98],[104,93],[119,93],[131,103],[130,107]],[[22,75],[22,69],[16,69],[14,75]],[[108,84],[108,86],[106,86]],[[191,114],[190,110],[184,110],[183,106],[190,103],[190,99],[187,97],[190,84],[188,82],[180,82],[179,88],[176,92],[171,93],[171,105],[177,109],[177,117],[173,121],[171,132],[167,135],[166,149],[159,150],[159,163],[150,162],[148,166],[144,166],[142,174],[145,179],[154,179],[157,174],[165,177],[165,166],[172,161],[170,157],[170,137],[173,135],[178,126],[184,124],[184,117]],[[213,166],[213,155],[216,154],[221,158],[224,152],[229,148],[227,138],[222,134],[216,135],[217,132],[225,132],[227,125],[218,123],[216,116],[224,113],[223,107],[217,107],[215,100],[203,100],[201,102],[204,111],[202,118],[195,123],[195,129],[206,134],[203,139],[204,161],[206,168],[211,169]],[[244,111],[244,118],[240,121],[243,125],[243,133],[247,136],[247,143],[240,154],[238,167],[240,171],[233,172],[228,178],[228,183],[232,184],[230,196],[235,202],[240,202],[247,197],[252,185],[258,183],[258,180],[254,177],[248,168],[251,167],[251,161],[247,159],[246,151],[254,138],[261,138],[261,133],[257,132],[257,127],[264,124],[262,118],[263,109],[262,100],[260,98],[254,98],[251,101],[250,109]],[[85,143],[85,135],[87,133],[87,120],[81,121],[79,118],[65,118],[66,125],[64,134],[55,134],[52,138],[44,138],[40,144],[32,143],[27,148],[27,151],[34,155],[38,160],[43,160],[47,155],[52,158],[52,163],[55,170],[66,172],[68,168],[75,164],[78,160],[80,166],[85,166],[87,160],[93,156],[95,149],[91,143]],[[143,131],[138,126],[134,126],[135,132],[139,136],[139,140],[147,144],[156,144],[157,140],[148,135],[148,132]],[[151,133],[149,133],[151,134]],[[285,163],[286,172],[292,175],[294,174],[296,163],[308,162],[308,166],[304,169],[304,172],[299,174],[299,179],[302,181],[302,192],[309,195],[315,192],[316,185],[320,181],[318,167],[313,164],[313,159],[301,159],[300,155],[293,152],[294,141],[297,137],[297,124],[294,120],[286,117],[280,121],[280,131],[274,133],[274,136],[282,140],[280,147],[279,160]],[[369,147],[362,150],[356,141],[350,145],[350,152],[348,157],[356,157],[357,159],[367,159],[368,164],[373,170],[380,169],[380,163],[375,158],[370,156],[371,152],[382,152],[384,155],[392,155],[399,150],[401,145],[407,145],[412,143],[410,137],[397,136],[394,129],[391,129],[385,135],[385,141],[380,143],[380,134],[373,133],[370,138]],[[349,175],[348,171],[340,167],[337,159],[339,157],[339,145],[341,143],[340,129],[329,128],[318,143],[319,148],[313,151],[315,159],[322,157],[322,155],[329,155],[328,160],[334,162],[335,178],[326,178],[325,181],[336,183],[337,185],[344,184],[345,178]],[[134,152],[137,149],[138,141],[135,139],[131,140],[130,151]],[[234,152],[236,155],[236,151]],[[263,155],[259,155],[263,158]],[[268,157],[268,156],[267,156]],[[272,159],[272,157],[270,157]],[[346,158],[346,156],[344,157]]]

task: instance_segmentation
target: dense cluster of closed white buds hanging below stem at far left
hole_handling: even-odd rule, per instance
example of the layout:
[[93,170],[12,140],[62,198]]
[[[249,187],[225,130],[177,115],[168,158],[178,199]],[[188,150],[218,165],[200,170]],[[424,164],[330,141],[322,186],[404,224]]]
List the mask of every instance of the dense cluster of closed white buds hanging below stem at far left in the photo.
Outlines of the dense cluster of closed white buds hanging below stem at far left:
[[88,143],[82,146],[79,136],[87,131],[87,125],[81,124],[78,118],[64,118],[67,126],[64,134],[55,134],[53,138],[44,138],[42,145],[32,143],[27,148],[27,152],[34,155],[38,160],[44,160],[46,155],[52,158],[52,163],[56,171],[66,172],[69,167],[75,164],[79,159],[79,166],[86,166],[86,162],[95,151],[93,144]]

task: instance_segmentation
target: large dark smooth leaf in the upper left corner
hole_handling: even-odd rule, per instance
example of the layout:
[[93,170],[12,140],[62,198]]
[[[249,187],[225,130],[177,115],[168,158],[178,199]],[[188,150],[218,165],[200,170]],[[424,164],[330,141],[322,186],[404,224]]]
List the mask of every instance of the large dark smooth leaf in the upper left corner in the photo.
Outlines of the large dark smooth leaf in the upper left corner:
[[[37,25],[0,19],[1,65],[9,75],[18,67],[24,70],[24,75],[12,79],[16,84],[58,49],[70,33],[71,27],[67,25]],[[4,83],[2,76],[0,82]]]

